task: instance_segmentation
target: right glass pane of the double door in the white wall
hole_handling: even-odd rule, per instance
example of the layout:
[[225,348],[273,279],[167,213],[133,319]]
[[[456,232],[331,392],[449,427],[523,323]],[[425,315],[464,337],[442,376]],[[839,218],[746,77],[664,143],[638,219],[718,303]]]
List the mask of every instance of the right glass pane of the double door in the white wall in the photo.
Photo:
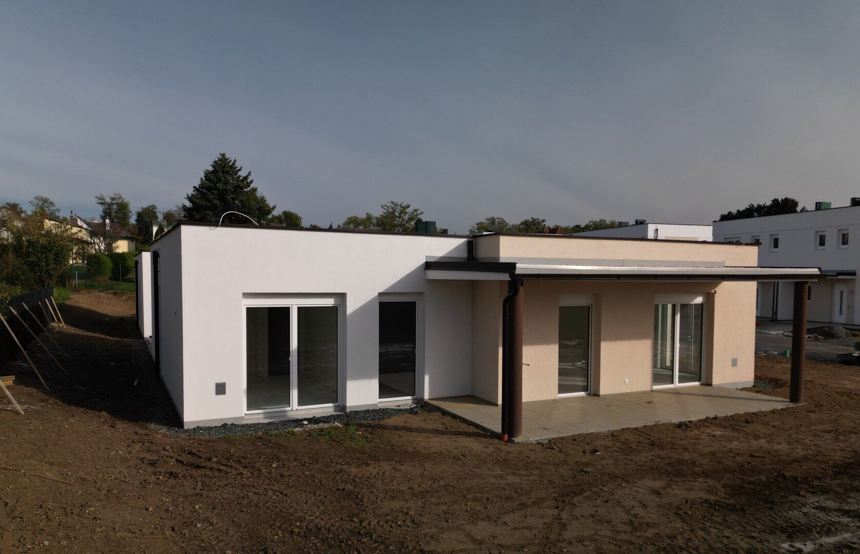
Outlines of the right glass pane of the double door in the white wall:
[[298,405],[337,404],[337,306],[299,306]]

